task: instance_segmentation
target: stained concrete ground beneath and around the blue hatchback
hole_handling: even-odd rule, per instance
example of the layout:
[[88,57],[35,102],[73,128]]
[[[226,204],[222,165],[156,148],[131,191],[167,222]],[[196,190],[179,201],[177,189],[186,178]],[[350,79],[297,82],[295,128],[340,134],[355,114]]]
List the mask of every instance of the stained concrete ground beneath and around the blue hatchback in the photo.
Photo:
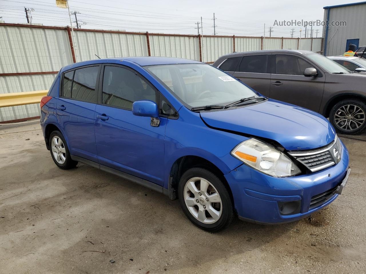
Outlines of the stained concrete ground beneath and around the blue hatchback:
[[163,194],[57,168],[38,123],[0,126],[0,273],[366,273],[366,142],[342,141],[352,172],[331,205],[212,234]]

